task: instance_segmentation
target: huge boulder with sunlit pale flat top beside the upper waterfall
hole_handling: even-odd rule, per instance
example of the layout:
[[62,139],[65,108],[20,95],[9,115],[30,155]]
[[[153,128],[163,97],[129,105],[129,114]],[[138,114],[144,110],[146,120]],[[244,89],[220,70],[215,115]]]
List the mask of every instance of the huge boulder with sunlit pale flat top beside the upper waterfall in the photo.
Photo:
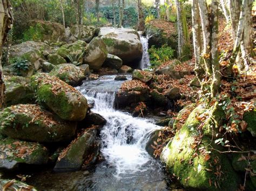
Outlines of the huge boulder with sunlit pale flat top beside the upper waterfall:
[[133,29],[102,27],[99,31],[110,54],[117,55],[126,65],[142,59],[143,48],[138,32]]

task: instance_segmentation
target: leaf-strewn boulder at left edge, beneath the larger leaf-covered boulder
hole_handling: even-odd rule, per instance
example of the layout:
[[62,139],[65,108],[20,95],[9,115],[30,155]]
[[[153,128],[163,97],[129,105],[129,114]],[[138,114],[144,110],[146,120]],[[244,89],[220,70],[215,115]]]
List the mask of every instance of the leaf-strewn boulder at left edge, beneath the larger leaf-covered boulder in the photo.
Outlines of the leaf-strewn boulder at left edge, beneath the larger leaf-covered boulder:
[[39,143],[5,138],[0,140],[0,147],[0,168],[13,169],[19,164],[42,165],[48,162],[48,150]]

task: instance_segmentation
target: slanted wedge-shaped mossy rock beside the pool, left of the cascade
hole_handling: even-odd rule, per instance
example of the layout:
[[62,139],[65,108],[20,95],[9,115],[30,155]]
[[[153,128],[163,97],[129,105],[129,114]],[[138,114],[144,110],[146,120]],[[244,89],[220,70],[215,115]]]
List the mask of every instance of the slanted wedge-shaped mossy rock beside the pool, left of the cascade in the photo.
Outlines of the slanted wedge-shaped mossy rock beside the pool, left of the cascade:
[[82,167],[85,158],[92,152],[97,135],[96,129],[86,129],[60,153],[54,171],[75,171]]

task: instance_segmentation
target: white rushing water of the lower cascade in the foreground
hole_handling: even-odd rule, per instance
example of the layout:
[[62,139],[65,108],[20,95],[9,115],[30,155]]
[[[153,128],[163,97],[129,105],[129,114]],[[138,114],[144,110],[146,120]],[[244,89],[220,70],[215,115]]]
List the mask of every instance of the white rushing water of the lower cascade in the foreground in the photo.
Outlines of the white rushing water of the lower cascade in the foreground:
[[[112,83],[110,79],[99,81],[101,84]],[[123,175],[149,171],[149,168],[152,170],[151,163],[154,159],[146,152],[145,145],[150,133],[160,127],[150,119],[135,118],[113,109],[113,92],[97,93],[84,86],[86,87],[83,84],[78,89],[88,100],[95,102],[92,111],[102,115],[107,121],[101,131],[101,152],[107,163],[116,168],[114,175],[122,178]]]

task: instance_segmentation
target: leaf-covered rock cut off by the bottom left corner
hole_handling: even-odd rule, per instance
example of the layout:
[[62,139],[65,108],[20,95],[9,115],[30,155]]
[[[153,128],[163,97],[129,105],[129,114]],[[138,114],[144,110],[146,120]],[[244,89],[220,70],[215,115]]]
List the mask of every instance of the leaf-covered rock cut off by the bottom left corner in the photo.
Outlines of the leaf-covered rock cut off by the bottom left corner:
[[8,179],[0,179],[0,189],[2,190],[5,185],[10,185],[6,190],[30,190],[36,191],[36,189],[30,185],[27,185],[24,182],[17,180],[8,180]]

